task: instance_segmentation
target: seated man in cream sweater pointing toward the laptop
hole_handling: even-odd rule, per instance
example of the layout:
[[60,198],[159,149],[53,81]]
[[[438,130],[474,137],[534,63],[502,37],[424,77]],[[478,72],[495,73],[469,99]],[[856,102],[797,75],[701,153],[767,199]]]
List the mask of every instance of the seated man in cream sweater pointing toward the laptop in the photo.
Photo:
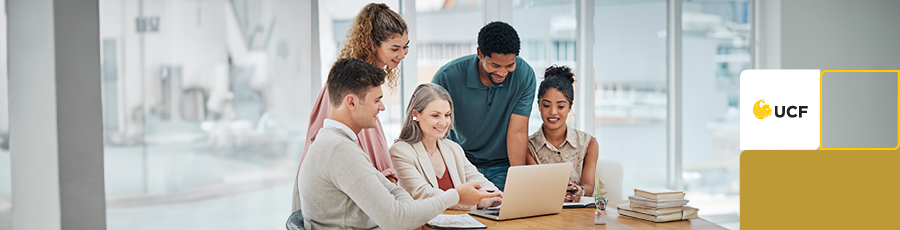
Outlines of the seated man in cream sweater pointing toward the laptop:
[[355,58],[338,60],[326,85],[331,116],[309,146],[297,180],[307,229],[413,229],[454,204],[475,205],[499,194],[466,183],[435,197],[413,200],[369,163],[356,134],[375,127],[384,110],[386,73]]

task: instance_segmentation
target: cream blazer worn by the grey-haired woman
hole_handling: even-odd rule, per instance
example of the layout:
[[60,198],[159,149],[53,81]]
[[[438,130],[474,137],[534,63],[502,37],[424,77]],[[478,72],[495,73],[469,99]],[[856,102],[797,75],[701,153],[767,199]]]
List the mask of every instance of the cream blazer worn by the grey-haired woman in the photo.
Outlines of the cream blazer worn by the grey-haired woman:
[[[449,139],[441,139],[438,141],[438,148],[444,156],[444,164],[447,165],[450,181],[453,181],[454,187],[468,182],[476,182],[481,184],[483,189],[497,189],[494,183],[481,175],[475,165],[466,159],[466,153],[459,144]],[[394,170],[397,170],[398,184],[409,192],[413,199],[425,199],[444,193],[438,188],[434,167],[431,165],[431,159],[428,158],[422,142],[409,144],[405,141],[398,141],[391,146],[391,162]],[[475,206],[456,204],[449,209],[474,210]]]

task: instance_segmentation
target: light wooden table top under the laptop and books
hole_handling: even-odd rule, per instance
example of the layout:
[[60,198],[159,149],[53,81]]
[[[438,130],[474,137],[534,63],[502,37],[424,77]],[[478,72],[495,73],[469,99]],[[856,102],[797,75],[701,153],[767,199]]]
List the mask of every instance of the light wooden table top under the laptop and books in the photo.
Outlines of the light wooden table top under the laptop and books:
[[[626,201],[627,202],[627,201]],[[610,204],[610,207],[616,202]],[[702,211],[702,210],[701,210]],[[447,210],[444,214],[464,214],[465,211]],[[725,229],[704,219],[689,219],[667,223],[653,223],[646,220],[620,216],[615,209],[608,209],[606,225],[594,225],[594,208],[564,208],[554,215],[495,221],[474,216],[488,229]],[[427,226],[423,229],[432,229]]]

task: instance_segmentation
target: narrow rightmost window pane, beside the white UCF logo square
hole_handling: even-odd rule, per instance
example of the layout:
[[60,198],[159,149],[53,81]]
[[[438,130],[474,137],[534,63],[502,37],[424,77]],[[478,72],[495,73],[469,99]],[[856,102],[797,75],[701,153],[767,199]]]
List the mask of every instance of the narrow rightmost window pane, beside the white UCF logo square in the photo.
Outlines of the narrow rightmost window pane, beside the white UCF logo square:
[[738,76],[751,68],[749,1],[693,1],[682,9],[685,191],[701,217],[738,227]]

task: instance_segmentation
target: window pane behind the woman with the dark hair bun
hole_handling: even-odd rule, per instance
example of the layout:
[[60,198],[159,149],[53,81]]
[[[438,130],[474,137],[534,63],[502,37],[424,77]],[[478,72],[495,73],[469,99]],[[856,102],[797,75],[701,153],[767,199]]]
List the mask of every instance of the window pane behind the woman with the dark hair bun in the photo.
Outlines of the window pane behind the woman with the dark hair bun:
[[[512,26],[519,32],[519,39],[522,41],[519,56],[534,69],[538,85],[544,79],[544,69],[551,65],[565,65],[572,68],[572,71],[577,71],[574,0],[513,1]],[[532,104],[528,120],[529,135],[537,132],[543,124],[537,103]],[[576,111],[573,110],[572,113]],[[574,122],[574,116],[566,119],[566,123],[570,125]]]

